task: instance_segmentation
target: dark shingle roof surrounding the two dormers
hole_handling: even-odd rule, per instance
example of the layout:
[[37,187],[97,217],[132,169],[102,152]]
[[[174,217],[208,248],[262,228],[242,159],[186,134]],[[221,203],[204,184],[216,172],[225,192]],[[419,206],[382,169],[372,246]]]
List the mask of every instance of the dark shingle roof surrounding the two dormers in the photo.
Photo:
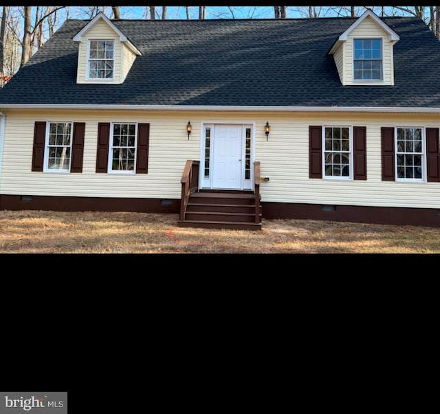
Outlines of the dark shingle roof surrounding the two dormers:
[[395,86],[342,86],[328,54],[354,18],[113,21],[142,51],[123,84],[76,84],[71,20],[0,91],[1,104],[440,107],[440,42],[415,17],[400,36]]

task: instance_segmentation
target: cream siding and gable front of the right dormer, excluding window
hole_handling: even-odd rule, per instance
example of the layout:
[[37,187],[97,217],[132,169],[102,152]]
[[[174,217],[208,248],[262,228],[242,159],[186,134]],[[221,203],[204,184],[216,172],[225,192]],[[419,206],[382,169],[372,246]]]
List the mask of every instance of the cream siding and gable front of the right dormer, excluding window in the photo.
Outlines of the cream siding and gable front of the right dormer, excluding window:
[[[344,84],[360,84],[358,81],[353,81],[353,38],[369,37],[382,38],[382,46],[384,49],[382,54],[384,80],[377,83],[393,85],[393,42],[390,41],[388,33],[386,33],[382,27],[378,26],[377,23],[371,19],[371,17],[366,17],[366,19],[362,21],[358,27],[355,27],[355,29],[349,34],[347,41],[344,42]],[[371,85],[371,82],[366,82],[365,84]]]

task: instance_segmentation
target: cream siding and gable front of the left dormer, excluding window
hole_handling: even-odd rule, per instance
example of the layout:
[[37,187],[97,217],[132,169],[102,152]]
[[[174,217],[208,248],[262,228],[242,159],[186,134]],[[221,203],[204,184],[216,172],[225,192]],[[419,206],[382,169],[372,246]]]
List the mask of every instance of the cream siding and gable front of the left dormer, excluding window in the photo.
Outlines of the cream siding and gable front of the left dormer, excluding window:
[[[115,67],[114,67],[114,80],[87,80],[87,50],[89,39],[113,39],[115,41]],[[118,34],[115,33],[111,27],[104,21],[98,21],[83,38],[83,43],[78,47],[78,71],[76,76],[77,83],[111,83],[120,84],[125,79],[125,75],[122,73],[122,42],[119,41]]]

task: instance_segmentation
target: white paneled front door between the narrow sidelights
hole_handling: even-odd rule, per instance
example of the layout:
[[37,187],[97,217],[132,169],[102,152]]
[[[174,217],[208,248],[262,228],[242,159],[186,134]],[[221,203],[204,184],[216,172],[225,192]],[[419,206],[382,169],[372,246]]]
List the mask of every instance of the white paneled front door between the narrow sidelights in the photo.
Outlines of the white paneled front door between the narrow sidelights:
[[215,125],[212,142],[212,187],[241,189],[243,126]]

